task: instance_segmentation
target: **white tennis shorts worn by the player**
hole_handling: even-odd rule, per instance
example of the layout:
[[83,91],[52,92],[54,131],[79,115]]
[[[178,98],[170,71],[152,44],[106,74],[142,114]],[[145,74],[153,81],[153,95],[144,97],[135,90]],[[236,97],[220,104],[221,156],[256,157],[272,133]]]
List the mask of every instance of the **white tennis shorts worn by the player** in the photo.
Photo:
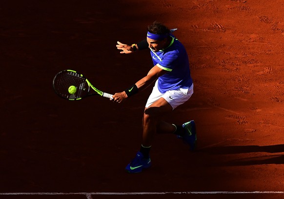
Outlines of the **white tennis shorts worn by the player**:
[[159,100],[160,98],[163,98],[173,107],[174,110],[179,105],[189,100],[192,94],[193,94],[193,84],[189,88],[179,88],[178,90],[170,90],[162,94],[158,89],[158,80],[157,80],[153,88],[153,91],[147,100],[145,107],[148,108],[155,101]]

